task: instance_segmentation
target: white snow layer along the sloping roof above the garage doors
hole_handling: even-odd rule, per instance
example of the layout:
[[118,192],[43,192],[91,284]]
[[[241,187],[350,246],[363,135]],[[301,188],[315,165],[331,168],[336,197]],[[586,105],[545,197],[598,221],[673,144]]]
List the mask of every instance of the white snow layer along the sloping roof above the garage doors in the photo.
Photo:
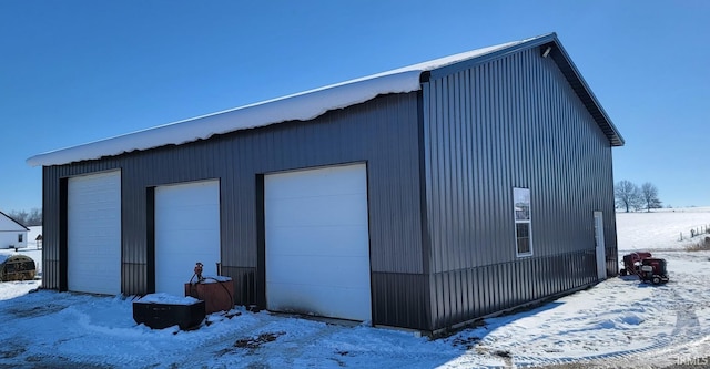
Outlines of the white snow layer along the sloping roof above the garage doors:
[[31,166],[62,165],[97,160],[103,156],[120,155],[136,150],[148,150],[170,144],[180,145],[197,140],[206,140],[215,134],[287,121],[308,121],[327,111],[358,104],[379,94],[406,93],[420,90],[419,76],[422,72],[477,58],[526,41],[529,40],[477,49],[321,89],[51,151],[28,158],[27,163]]

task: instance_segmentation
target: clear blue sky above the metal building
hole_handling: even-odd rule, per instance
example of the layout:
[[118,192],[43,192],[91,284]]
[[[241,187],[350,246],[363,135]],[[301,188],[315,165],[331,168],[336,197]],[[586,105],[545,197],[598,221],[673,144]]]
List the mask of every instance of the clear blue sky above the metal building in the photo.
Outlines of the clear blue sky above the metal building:
[[615,181],[710,205],[710,1],[0,1],[0,211],[34,154],[557,32],[627,141]]

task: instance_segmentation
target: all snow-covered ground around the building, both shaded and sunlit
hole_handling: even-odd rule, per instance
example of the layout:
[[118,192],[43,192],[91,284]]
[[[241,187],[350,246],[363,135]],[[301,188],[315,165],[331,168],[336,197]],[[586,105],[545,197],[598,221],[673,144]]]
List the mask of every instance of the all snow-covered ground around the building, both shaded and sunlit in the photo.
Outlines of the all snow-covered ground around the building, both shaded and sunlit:
[[29,293],[39,281],[3,283],[0,367],[706,368],[710,252],[686,252],[678,239],[709,217],[710,209],[619,214],[619,248],[652,248],[668,259],[665,286],[611,278],[437,340],[243,309],[211,315],[197,330],[151,330],[133,321],[131,298]]

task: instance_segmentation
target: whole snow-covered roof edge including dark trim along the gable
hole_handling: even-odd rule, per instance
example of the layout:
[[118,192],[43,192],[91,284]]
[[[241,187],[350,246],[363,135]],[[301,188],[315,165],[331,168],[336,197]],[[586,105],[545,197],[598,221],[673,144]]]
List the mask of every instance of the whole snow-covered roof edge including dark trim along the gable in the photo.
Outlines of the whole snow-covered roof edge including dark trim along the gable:
[[308,121],[327,111],[363,103],[381,94],[418,91],[422,89],[422,83],[428,81],[429,78],[446,75],[537,47],[542,50],[547,50],[550,47],[547,52],[548,57],[551,55],[552,60],[555,60],[574,91],[609,139],[611,145],[623,145],[623,139],[561,47],[557,34],[549,33],[523,41],[477,49],[111,139],[51,151],[28,158],[27,163],[31,166],[62,165],[164,145],[180,145],[197,140],[206,140],[215,134],[288,121]]

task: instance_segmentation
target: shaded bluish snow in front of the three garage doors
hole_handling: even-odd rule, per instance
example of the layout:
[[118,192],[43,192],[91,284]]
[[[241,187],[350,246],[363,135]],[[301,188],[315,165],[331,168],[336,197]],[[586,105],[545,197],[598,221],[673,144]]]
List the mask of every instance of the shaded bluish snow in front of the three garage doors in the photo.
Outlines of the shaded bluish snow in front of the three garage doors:
[[0,367],[436,367],[460,355],[402,331],[232,312],[194,331],[151,330],[135,325],[130,299],[28,294],[0,301]]

